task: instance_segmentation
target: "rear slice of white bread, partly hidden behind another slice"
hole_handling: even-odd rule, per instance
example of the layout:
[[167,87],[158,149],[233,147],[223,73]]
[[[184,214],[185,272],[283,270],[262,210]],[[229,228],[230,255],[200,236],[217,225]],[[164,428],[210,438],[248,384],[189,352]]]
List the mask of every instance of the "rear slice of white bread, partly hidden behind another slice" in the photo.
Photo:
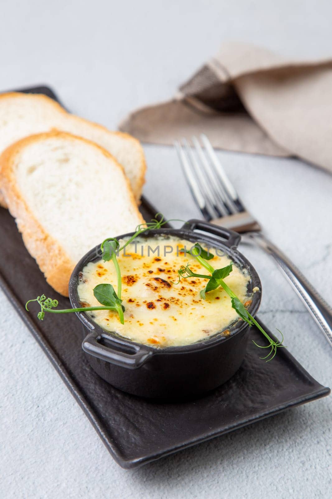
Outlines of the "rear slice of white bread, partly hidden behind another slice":
[[[0,154],[23,137],[52,130],[84,137],[109,151],[123,166],[135,199],[139,201],[146,166],[138,140],[74,116],[45,95],[20,92],[0,94]],[[0,204],[5,207],[1,197]]]

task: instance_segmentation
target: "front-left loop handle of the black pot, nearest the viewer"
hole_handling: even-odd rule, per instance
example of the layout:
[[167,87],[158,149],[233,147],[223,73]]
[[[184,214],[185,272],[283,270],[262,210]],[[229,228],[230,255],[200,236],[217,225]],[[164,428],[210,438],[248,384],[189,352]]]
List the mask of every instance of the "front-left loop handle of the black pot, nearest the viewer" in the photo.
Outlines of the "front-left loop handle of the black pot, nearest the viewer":
[[[100,340],[108,342],[108,346],[103,345]],[[137,369],[141,367],[153,355],[151,350],[145,349],[141,345],[130,345],[126,349],[121,343],[112,340],[108,334],[90,333],[82,343],[82,348],[86,353],[105,360],[116,366],[125,367],[127,369]],[[133,353],[128,353],[133,350]]]

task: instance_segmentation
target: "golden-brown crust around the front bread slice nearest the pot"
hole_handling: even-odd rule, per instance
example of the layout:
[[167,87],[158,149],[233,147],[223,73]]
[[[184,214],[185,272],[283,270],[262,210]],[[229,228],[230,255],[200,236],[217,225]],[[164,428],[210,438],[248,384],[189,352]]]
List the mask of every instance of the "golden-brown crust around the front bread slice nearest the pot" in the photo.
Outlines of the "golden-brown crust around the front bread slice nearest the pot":
[[[74,262],[69,258],[60,244],[49,234],[47,234],[42,225],[37,221],[25,202],[17,186],[15,175],[13,173],[16,158],[26,146],[49,138],[79,140],[87,143],[97,148],[107,158],[110,158],[115,166],[122,171],[122,173],[123,168],[106,149],[103,149],[95,142],[82,137],[77,137],[67,132],[59,131],[25,137],[24,139],[10,145],[0,156],[0,180],[2,183],[3,197],[10,214],[15,218],[17,228],[22,234],[24,245],[31,256],[33,256],[37,261],[40,270],[45,275],[46,281],[58,293],[68,296],[69,278],[77,262]],[[124,178],[128,187],[128,194],[132,208],[136,211],[138,220],[140,220],[141,223],[144,223],[144,219],[138,211],[132,190],[130,189],[129,181],[125,175]]]

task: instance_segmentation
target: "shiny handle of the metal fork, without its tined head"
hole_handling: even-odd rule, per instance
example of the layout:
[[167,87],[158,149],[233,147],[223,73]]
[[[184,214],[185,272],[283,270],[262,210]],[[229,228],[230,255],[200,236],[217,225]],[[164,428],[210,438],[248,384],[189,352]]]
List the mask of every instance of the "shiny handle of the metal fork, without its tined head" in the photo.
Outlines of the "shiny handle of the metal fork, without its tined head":
[[261,233],[248,233],[246,237],[254,240],[262,250],[274,258],[284,276],[299,294],[332,346],[332,308],[291,260]]

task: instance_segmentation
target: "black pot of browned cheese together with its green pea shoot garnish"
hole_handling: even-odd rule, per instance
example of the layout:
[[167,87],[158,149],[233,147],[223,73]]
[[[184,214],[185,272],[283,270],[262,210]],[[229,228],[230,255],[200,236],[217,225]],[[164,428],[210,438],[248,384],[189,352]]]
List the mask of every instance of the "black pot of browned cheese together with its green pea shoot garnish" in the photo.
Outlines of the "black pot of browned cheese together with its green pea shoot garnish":
[[[192,397],[220,386],[237,371],[249,326],[255,325],[268,340],[264,345],[255,342],[268,349],[261,357],[267,362],[284,346],[283,338],[272,338],[254,318],[260,281],[236,250],[238,234],[199,220],[185,222],[179,230],[162,229],[165,224],[156,216],[137,226],[134,233],[107,238],[87,253],[69,281],[71,309],[56,309],[58,300],[45,295],[28,300],[25,308],[29,310],[29,303],[37,301],[40,320],[45,312],[77,313],[91,331],[83,350],[92,356],[89,361],[98,374],[115,387],[143,397]],[[202,237],[195,230],[208,235]],[[189,243],[191,248],[187,248]],[[150,250],[160,254],[160,249],[165,260],[149,254]],[[122,275],[121,265],[129,273]],[[172,280],[176,274],[178,280]],[[106,282],[100,282],[103,279]],[[200,281],[203,289],[199,289]],[[134,285],[136,293],[129,291]]]

